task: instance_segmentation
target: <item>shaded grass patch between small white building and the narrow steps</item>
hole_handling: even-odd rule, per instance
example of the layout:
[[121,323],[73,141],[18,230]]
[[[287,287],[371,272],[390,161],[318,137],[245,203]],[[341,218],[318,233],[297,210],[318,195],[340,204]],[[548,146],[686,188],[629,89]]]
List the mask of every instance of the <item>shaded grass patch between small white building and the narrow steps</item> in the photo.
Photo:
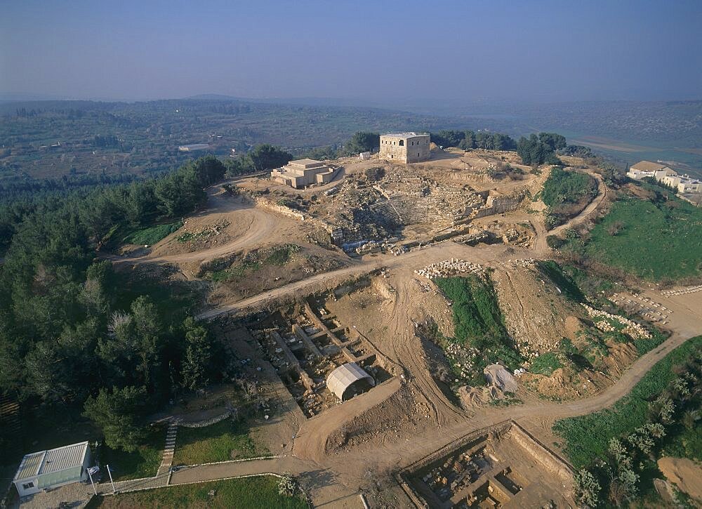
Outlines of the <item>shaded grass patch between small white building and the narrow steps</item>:
[[151,428],[147,443],[134,452],[111,449],[103,445],[100,449],[100,463],[110,465],[112,479],[115,481],[154,477],[159,470],[165,444],[166,430],[161,427]]

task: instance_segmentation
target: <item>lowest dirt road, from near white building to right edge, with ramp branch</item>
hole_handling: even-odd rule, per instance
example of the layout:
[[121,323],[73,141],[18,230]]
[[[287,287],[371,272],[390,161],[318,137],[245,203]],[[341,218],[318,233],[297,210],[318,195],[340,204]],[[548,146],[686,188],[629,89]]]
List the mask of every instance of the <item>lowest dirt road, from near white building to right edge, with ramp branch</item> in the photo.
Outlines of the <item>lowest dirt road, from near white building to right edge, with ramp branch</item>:
[[[373,444],[371,449],[358,447],[342,455],[326,454],[326,437],[338,429],[338,426],[343,425],[343,419],[325,419],[324,414],[321,414],[317,418],[308,420],[305,423],[306,427],[303,425],[300,430],[301,439],[296,442],[294,454],[291,456],[190,465],[174,472],[169,484],[190,484],[247,475],[291,472],[307,489],[310,489],[315,507],[361,508],[362,503],[356,494],[359,484],[366,481],[366,472],[393,472],[405,468],[475,430],[507,419],[519,421],[529,417],[565,418],[590,414],[607,408],[627,395],[656,362],[688,339],[687,336],[674,334],[658,348],[637,359],[614,385],[588,399],[565,403],[538,401],[528,406],[522,404],[507,408],[486,407],[473,414],[454,411],[453,416],[456,418],[453,423],[445,423],[441,432],[430,428],[422,435],[413,435],[411,440],[409,437],[404,440],[403,436],[395,443],[382,446]],[[383,392],[380,399],[387,399],[395,390],[399,390],[401,385],[399,379],[395,378],[379,386],[378,389]],[[364,396],[372,394],[373,391]],[[369,401],[368,398],[364,400],[364,397],[352,399],[344,404],[343,414],[358,415],[363,409],[372,408]],[[373,398],[373,401],[375,402],[376,398]],[[336,414],[342,415],[341,412]],[[167,482],[166,478],[161,476],[116,484],[121,491],[127,491],[162,487],[166,486]],[[102,494],[110,494],[109,484],[100,484],[99,488]],[[395,490],[395,493],[399,491]]]

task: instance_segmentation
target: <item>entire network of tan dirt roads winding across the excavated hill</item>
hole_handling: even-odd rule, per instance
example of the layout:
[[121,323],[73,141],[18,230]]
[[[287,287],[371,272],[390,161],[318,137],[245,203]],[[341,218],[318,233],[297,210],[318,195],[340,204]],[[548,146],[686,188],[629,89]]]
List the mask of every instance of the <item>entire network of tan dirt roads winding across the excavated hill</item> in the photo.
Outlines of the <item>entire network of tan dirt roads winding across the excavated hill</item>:
[[[597,178],[598,182],[599,192],[597,197],[576,218],[572,218],[565,225],[553,230],[552,234],[582,223],[592,213],[595,213],[600,204],[602,204],[602,201],[607,196],[607,187],[600,176],[593,176]],[[257,219],[260,220],[260,224],[265,229],[276,216],[264,211],[260,212],[273,218],[266,219],[262,217]],[[208,250],[200,253],[176,255],[176,258],[171,258],[171,260],[190,260],[191,258],[184,258],[190,256],[201,257],[192,259],[204,259],[208,256],[213,256],[213,253],[217,253],[216,256],[221,256],[227,252],[227,249],[232,249],[232,246],[236,246],[235,249],[241,249],[241,246],[244,244],[260,242],[260,239],[265,237],[265,234],[261,236],[258,232],[253,231],[258,229],[255,224],[252,220],[246,234],[231,244],[220,246],[214,251]],[[463,258],[490,265],[491,263],[511,259],[543,258],[548,256],[550,250],[545,244],[545,231],[543,228],[539,229],[537,227],[536,232],[535,249],[522,249],[505,245],[471,247],[447,241],[423,249],[416,249],[401,256],[376,255],[366,257],[362,261],[352,262],[352,265],[349,267],[313,275],[307,279],[286,284],[277,289],[272,289],[237,302],[226,303],[219,308],[202,313],[199,316],[200,318],[211,319],[227,313],[239,312],[262,305],[284,296],[305,294],[312,286],[329,285],[331,282],[338,282],[352,275],[370,272],[380,267],[388,267],[390,272],[398,275],[395,278],[397,297],[392,310],[385,311],[390,317],[390,329],[388,330],[390,339],[385,346],[389,345],[388,348],[392,351],[383,353],[388,355],[393,362],[402,363],[402,366],[406,369],[406,378],[393,378],[365,395],[361,395],[350,402],[325,411],[316,418],[303,422],[294,439],[292,456],[277,458],[275,461],[198,465],[187,468],[182,472],[177,472],[173,475],[172,482],[213,480],[216,478],[262,473],[264,470],[277,473],[290,471],[298,473],[298,475],[307,480],[315,503],[327,503],[330,500],[336,500],[336,498],[343,499],[357,492],[359,487],[367,482],[368,472],[388,473],[396,471],[398,468],[410,465],[474,430],[504,421],[505,419],[562,418],[588,414],[611,406],[617,399],[626,395],[642,376],[651,369],[651,366],[670,350],[673,350],[673,348],[681,345],[691,337],[689,329],[685,330],[684,333],[674,333],[663,345],[637,359],[628,371],[625,371],[625,374],[607,390],[588,399],[566,403],[538,400],[529,402],[528,405],[512,405],[507,408],[484,406],[474,411],[458,409],[446,399],[428,371],[425,358],[422,355],[423,352],[409,319],[411,317],[410,310],[416,303],[412,301],[412,293],[406,285],[412,279],[413,270],[416,268],[440,260],[446,260],[447,258]],[[152,260],[153,258],[145,261]],[[140,260],[132,261],[139,262]],[[403,281],[405,282],[404,284]],[[420,304],[418,303],[418,305]],[[424,428],[421,428],[419,431],[413,431],[411,436],[398,432],[397,439],[393,435],[392,437],[386,437],[388,439],[383,439],[382,442],[370,441],[343,452],[333,452],[330,449],[329,437],[336,430],[345,427],[357,416],[369,411],[372,412],[376,406],[388,402],[391,397],[404,387],[411,390],[413,395],[415,395],[416,401],[425,402],[430,408],[431,415],[427,419]]]

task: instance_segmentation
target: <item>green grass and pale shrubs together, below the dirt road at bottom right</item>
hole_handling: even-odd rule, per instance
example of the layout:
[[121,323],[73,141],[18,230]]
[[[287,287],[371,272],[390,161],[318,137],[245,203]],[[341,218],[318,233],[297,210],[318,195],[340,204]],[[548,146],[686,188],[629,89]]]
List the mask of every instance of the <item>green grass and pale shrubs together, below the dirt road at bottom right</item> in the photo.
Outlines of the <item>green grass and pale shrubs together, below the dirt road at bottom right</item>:
[[618,507],[644,498],[660,506],[653,480],[663,456],[702,459],[699,406],[702,336],[666,355],[611,409],[557,421],[555,432],[579,468],[582,505]]

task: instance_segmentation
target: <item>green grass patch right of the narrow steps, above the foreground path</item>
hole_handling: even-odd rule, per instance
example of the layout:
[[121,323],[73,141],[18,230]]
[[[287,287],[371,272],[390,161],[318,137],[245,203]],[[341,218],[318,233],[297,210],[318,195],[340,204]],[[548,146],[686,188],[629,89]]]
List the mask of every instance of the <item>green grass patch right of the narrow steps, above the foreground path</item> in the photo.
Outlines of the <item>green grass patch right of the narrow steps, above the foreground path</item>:
[[194,465],[255,458],[267,453],[265,448],[251,439],[246,423],[225,419],[205,428],[180,428],[173,464]]

